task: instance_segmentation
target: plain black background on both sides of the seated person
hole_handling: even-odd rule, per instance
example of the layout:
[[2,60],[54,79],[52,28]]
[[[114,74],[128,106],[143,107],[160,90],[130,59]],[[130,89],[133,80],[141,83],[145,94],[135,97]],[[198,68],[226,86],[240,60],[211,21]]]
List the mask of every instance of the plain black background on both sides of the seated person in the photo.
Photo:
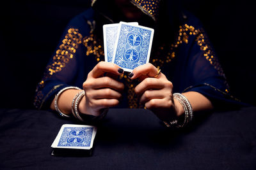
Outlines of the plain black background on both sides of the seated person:
[[[9,1],[1,10],[1,108],[33,108],[44,68],[68,21],[88,0]],[[234,96],[256,105],[253,5],[246,1],[188,1],[204,24]]]

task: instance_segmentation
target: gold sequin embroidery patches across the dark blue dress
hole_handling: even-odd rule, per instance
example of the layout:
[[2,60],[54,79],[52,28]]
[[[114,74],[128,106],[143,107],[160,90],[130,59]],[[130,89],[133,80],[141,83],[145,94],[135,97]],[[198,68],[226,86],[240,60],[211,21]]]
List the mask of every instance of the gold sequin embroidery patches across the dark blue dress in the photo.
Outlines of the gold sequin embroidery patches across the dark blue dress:
[[[140,0],[137,0],[136,2],[139,1]],[[152,64],[154,64],[154,66],[156,66],[157,68],[160,68],[163,66],[163,64],[171,62],[172,59],[175,58],[175,49],[182,43],[188,43],[189,36],[191,35],[196,36],[196,43],[198,46],[200,46],[200,50],[204,51],[205,59],[209,60],[209,62],[212,64],[212,66],[214,66],[215,69],[218,70],[218,73],[221,76],[225,76],[218,60],[216,60],[210,46],[205,41],[204,32],[200,29],[195,29],[195,27],[189,26],[188,24],[179,27],[179,34],[175,43],[173,43],[169,47],[161,46],[158,48],[158,52],[156,53],[157,55],[155,56],[161,56],[160,54],[166,52],[166,48],[170,49],[170,51],[168,53],[165,53],[166,57],[162,59],[151,59]],[[44,74],[44,78],[42,79],[42,81],[38,83],[38,87],[42,88],[44,86],[44,80],[46,78],[49,78],[49,76],[51,76],[52,74],[61,71],[61,69],[63,69],[63,67],[65,67],[66,64],[69,62],[69,60],[74,57],[74,53],[76,53],[78,45],[82,43],[82,36],[81,34],[79,34],[78,29],[68,29],[68,34],[65,36],[65,39],[63,39],[62,42],[63,44],[61,44],[60,49],[57,50],[56,55],[52,60],[52,64],[47,66],[47,72]],[[100,57],[104,56],[102,42],[97,42],[94,34],[90,34],[89,37],[85,37],[83,39],[83,45],[86,47],[87,56],[95,55],[95,59],[97,60],[97,62],[102,60],[100,59]],[[122,78],[125,79],[125,85],[128,87],[127,99],[129,108],[138,108],[138,97],[136,97],[136,94],[134,92],[134,81],[129,79],[127,75],[120,76],[120,79]],[[44,97],[42,92],[38,92],[38,88],[36,89],[36,92],[37,95],[35,97],[35,106],[36,104],[39,104],[42,98]],[[228,93],[228,89],[226,89],[225,92]]]

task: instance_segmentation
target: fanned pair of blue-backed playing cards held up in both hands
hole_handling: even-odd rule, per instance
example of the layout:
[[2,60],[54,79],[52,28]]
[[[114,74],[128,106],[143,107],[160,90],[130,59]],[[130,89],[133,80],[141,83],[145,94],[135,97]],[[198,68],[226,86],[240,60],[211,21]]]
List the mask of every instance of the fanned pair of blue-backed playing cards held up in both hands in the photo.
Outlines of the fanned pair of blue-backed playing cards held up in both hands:
[[131,72],[148,63],[154,29],[120,22],[103,26],[105,61]]

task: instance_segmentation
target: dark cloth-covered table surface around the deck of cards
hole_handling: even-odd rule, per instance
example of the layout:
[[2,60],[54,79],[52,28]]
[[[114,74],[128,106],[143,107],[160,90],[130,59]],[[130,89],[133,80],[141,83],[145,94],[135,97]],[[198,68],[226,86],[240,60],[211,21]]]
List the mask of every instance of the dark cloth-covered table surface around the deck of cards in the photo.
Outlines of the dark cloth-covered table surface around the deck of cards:
[[164,127],[149,110],[110,109],[90,157],[54,157],[56,113],[0,110],[0,169],[256,169],[256,108],[195,116],[188,129]]

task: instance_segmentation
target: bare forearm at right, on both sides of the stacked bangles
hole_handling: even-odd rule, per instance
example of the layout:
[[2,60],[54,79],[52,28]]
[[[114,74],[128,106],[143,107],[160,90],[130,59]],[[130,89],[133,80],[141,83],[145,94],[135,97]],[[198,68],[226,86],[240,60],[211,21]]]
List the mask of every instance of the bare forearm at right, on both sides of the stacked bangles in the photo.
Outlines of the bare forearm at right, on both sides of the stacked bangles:
[[[204,111],[211,110],[213,108],[211,101],[207,97],[203,96],[198,92],[185,92],[182,93],[187,97],[189,103],[191,104],[193,111]],[[179,101],[174,99],[175,107],[177,109],[177,116],[180,116],[184,113],[184,110],[179,103]]]

